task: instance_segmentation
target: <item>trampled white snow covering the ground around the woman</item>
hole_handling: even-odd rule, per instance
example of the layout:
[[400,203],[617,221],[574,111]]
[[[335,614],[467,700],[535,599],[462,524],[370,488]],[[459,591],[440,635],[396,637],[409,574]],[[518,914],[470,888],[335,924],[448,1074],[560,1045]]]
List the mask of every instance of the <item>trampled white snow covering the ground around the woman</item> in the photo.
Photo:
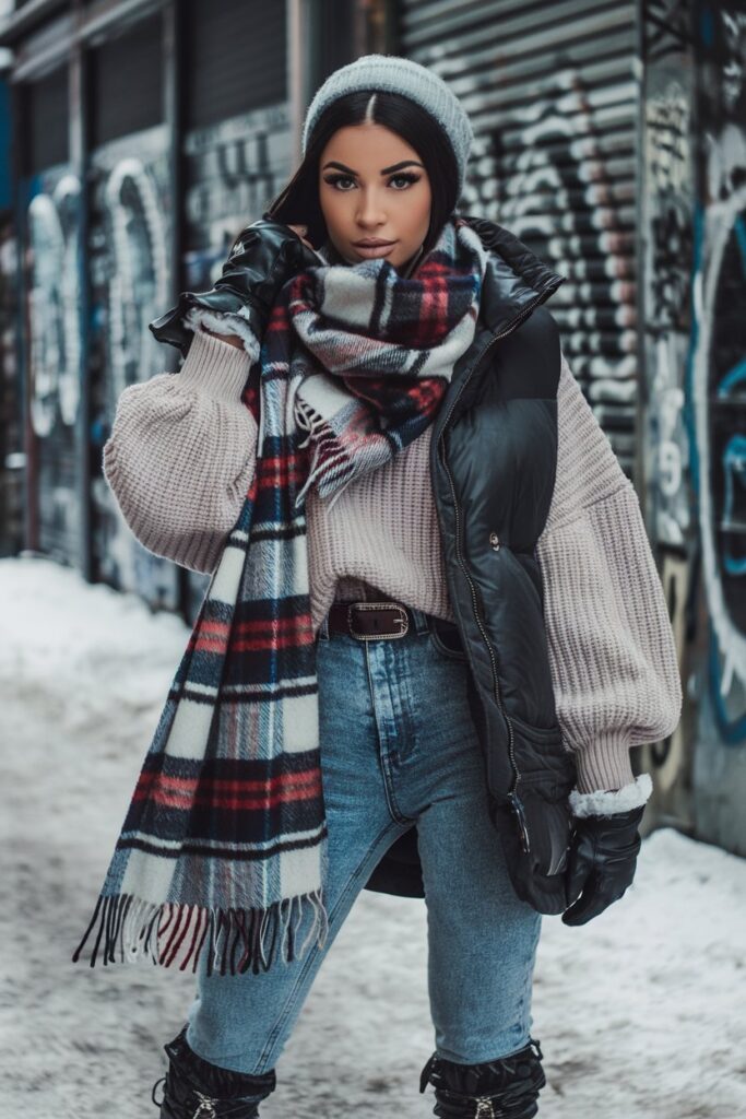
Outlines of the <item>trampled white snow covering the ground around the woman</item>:
[[[41,558],[0,561],[0,1119],[143,1119],[193,977],[72,952],[188,638]],[[621,902],[544,918],[533,1028],[546,1119],[746,1117],[746,862],[670,828]],[[424,902],[363,891],[262,1117],[432,1115]]]

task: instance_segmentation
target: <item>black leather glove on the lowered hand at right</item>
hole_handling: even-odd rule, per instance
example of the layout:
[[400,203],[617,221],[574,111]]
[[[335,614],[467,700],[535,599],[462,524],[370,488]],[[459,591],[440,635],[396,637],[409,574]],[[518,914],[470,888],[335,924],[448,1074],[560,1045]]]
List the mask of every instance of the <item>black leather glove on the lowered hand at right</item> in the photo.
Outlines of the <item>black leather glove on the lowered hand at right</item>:
[[613,816],[575,817],[565,872],[573,904],[563,913],[565,924],[586,924],[632,884],[644,810],[641,805]]

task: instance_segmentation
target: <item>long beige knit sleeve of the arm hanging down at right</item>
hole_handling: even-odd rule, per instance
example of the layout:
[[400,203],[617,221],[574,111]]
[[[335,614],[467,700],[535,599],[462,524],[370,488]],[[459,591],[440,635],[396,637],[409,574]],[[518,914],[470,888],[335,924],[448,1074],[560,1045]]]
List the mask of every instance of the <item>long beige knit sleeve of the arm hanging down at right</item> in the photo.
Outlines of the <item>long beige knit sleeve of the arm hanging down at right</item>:
[[608,801],[623,810],[652,790],[646,774],[635,782],[630,749],[679,722],[676,642],[635,489],[564,355],[557,408],[557,479],[537,544],[557,717],[578,806],[597,811],[599,792],[624,788]]

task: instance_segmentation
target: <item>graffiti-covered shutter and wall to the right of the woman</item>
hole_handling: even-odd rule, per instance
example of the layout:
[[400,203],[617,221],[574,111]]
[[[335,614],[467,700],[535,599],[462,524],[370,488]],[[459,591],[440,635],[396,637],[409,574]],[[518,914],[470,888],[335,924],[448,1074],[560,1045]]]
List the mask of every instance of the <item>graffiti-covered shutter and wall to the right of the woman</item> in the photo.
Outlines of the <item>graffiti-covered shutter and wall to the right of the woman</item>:
[[563,347],[641,498],[680,650],[648,827],[746,853],[745,3],[406,0],[475,144],[461,209],[568,276]]

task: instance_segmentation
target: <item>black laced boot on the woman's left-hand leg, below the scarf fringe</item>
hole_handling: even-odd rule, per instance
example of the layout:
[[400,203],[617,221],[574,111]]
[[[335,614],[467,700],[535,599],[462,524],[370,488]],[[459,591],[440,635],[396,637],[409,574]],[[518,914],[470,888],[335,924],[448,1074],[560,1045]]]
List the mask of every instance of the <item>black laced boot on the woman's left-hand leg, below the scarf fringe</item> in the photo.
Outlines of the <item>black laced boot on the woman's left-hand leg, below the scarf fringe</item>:
[[153,1084],[163,1084],[160,1119],[258,1119],[258,1104],[276,1087],[275,1071],[252,1076],[221,1069],[198,1056],[187,1044],[187,1026],[164,1045],[169,1071]]

